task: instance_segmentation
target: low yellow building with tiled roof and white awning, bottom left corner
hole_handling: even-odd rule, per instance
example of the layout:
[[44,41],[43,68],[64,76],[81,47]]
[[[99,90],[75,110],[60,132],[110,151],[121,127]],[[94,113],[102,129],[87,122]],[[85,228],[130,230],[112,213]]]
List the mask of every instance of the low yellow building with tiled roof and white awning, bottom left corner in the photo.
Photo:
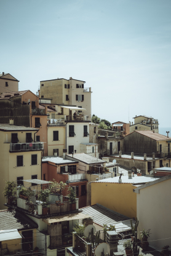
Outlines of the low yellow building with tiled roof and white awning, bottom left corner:
[[26,215],[10,210],[0,210],[1,255],[33,250],[36,247],[36,228],[38,224]]

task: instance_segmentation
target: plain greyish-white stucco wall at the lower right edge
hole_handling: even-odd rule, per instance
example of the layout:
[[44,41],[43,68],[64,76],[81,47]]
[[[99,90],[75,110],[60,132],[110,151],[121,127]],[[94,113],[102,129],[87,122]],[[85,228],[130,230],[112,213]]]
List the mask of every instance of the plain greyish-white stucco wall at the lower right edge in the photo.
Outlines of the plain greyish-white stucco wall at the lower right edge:
[[[171,179],[156,183],[140,190],[137,194],[138,234],[143,229],[150,230],[149,246],[171,247],[170,210]],[[140,236],[139,236],[140,237]]]

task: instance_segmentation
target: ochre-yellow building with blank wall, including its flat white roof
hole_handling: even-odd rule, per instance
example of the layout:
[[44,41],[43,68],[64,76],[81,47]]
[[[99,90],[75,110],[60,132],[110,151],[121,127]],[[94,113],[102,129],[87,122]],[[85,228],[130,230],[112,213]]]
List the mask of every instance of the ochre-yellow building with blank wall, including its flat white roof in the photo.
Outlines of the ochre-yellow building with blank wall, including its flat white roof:
[[91,205],[98,203],[129,218],[136,218],[137,194],[133,193],[133,189],[137,188],[139,184],[152,182],[156,179],[135,175],[132,178],[122,176],[121,179],[114,177],[92,182]]

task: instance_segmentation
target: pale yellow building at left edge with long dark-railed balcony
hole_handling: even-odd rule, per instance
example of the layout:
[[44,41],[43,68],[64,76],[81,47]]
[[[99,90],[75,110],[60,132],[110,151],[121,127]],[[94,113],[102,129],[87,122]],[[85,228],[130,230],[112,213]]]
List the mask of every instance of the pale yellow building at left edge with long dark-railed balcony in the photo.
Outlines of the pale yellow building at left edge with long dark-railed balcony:
[[41,179],[41,155],[43,143],[35,142],[39,129],[0,124],[0,209],[4,209],[6,198],[2,192],[6,181]]

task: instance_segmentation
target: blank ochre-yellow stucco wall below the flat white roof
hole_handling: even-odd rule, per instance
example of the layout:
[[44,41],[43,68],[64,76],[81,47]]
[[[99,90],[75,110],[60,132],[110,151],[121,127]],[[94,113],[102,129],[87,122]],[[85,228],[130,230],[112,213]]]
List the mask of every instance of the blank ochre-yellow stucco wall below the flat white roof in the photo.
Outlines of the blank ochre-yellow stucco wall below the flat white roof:
[[128,183],[91,183],[91,204],[101,204],[129,218],[137,217],[137,194]]

